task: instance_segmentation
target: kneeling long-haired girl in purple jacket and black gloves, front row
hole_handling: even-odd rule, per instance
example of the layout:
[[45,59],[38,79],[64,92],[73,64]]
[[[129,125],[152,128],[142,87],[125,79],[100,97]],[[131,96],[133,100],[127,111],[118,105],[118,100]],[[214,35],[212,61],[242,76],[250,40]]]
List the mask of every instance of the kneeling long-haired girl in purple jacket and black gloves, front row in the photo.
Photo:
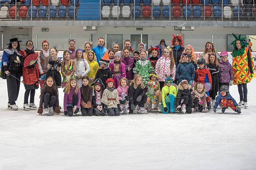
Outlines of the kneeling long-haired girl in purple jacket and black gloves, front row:
[[[71,77],[67,82],[64,90],[64,115],[73,116],[76,114],[78,116],[80,108],[81,93],[78,88],[78,83],[76,78]],[[75,112],[73,112],[73,108]]]

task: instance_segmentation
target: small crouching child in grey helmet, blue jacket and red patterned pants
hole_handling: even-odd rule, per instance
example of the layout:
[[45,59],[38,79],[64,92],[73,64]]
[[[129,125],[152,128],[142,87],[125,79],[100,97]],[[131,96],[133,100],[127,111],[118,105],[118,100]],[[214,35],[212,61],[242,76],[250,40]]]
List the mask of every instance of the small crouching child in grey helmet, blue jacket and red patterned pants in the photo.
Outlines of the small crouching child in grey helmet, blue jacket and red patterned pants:
[[226,85],[220,87],[219,95],[217,96],[216,102],[213,106],[214,113],[216,113],[216,108],[218,107],[219,104],[220,107],[222,108],[222,113],[224,113],[228,107],[230,107],[236,113],[241,113],[241,109],[236,103],[236,100],[230,95],[229,87]]

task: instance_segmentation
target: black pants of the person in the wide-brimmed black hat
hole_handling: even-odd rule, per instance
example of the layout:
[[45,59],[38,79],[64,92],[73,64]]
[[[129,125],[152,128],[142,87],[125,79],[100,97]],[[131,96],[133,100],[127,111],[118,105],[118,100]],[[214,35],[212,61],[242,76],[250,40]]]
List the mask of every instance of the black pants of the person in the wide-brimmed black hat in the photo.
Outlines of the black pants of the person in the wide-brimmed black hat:
[[[11,75],[16,77],[20,80],[20,72],[19,71],[10,71]],[[10,105],[15,104],[15,101],[17,100],[19,96],[20,91],[20,81],[12,77],[11,75],[6,76],[7,81],[7,91],[8,91],[8,103]]]

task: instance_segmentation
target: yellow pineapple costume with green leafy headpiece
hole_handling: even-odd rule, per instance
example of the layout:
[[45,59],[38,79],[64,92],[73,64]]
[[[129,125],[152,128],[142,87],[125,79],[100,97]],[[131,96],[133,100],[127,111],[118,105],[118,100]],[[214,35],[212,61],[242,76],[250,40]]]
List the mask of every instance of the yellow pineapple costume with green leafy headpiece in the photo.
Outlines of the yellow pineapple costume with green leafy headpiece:
[[[233,34],[233,33],[232,33]],[[233,34],[235,40],[230,43],[234,45],[234,50],[231,55],[233,56],[232,69],[234,72],[234,84],[249,83],[252,80],[254,72],[254,64],[252,60],[252,53],[246,45],[246,38],[242,37],[241,34],[237,37]],[[236,41],[241,42],[241,49],[238,50],[236,47]]]

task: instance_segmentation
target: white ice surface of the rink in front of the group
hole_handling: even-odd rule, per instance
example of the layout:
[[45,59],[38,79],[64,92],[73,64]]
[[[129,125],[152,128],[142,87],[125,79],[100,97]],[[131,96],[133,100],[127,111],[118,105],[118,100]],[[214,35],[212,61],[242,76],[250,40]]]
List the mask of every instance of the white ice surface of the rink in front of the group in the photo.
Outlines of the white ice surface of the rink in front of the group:
[[[22,110],[22,84],[19,111],[6,109],[6,80],[0,88],[0,169],[256,169],[256,79],[240,115],[228,109],[231,114],[66,117],[62,109],[46,117]],[[230,92],[239,102],[236,85]]]

